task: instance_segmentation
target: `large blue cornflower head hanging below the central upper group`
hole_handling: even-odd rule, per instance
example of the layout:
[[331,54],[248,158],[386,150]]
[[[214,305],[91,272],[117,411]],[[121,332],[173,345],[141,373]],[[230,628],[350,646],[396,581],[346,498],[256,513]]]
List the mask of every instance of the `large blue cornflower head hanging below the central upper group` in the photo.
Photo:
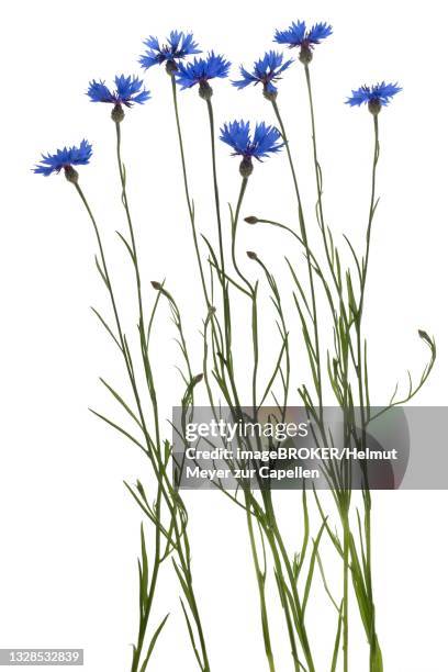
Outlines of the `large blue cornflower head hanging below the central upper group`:
[[279,143],[280,138],[278,128],[267,126],[265,122],[255,126],[254,136],[250,137],[250,123],[242,120],[224,124],[220,139],[232,147],[232,156],[243,157],[239,171],[243,177],[249,177],[254,170],[253,158],[261,161],[269,154],[279,152],[283,146],[283,143]]

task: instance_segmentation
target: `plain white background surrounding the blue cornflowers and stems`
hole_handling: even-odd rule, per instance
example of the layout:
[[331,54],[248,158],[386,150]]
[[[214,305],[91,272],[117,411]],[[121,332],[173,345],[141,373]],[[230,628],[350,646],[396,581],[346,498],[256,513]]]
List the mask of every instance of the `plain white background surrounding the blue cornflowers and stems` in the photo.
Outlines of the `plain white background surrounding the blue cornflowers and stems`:
[[[239,63],[250,65],[271,48],[276,27],[299,18],[329,21],[335,34],[316,49],[312,66],[325,206],[335,233],[347,233],[358,244],[368,212],[371,119],[366,110],[349,110],[344,99],[365,82],[399,80],[404,91],[380,119],[382,199],[367,305],[372,401],[387,401],[395,381],[405,380],[407,368],[418,371],[423,366],[426,351],[416,335],[423,327],[436,336],[439,358],[415,403],[444,405],[448,147],[443,13],[443,3],[434,0],[423,10],[416,2],[404,7],[385,0],[316,0],[300,7],[291,0],[269,7],[235,0],[222,5],[198,0],[47,0],[3,9],[0,647],[83,647],[89,672],[123,672],[130,669],[136,631],[141,516],[123,480],[134,482],[138,477],[150,483],[150,475],[134,448],[87,410],[92,405],[114,413],[98,376],[124,387],[121,363],[88,310],[107,305],[93,268],[88,220],[63,177],[44,179],[30,171],[41,152],[85,136],[94,144],[91,166],[80,170],[82,184],[104,231],[111,265],[127,288],[121,300],[132,325],[132,276],[114,235],[125,225],[114,128],[109,108],[92,105],[83,96],[89,79],[138,72],[142,40],[149,34],[163,37],[172,27],[191,29],[204,49],[225,53],[235,64],[235,75]],[[180,184],[169,80],[156,68],[145,80],[153,100],[131,111],[123,124],[145,287],[152,279],[167,278],[183,309],[200,370],[203,306]],[[258,88],[237,92],[220,81],[214,89],[219,122],[240,116],[273,121]],[[180,102],[199,226],[214,235],[204,104],[195,91],[182,93]],[[279,103],[313,221],[309,116],[298,64],[281,82]],[[238,189],[237,160],[228,154],[220,147],[224,212]],[[244,214],[284,220],[292,209],[285,157],[257,166]],[[254,278],[245,249],[256,249],[271,267],[280,268],[282,256],[291,254],[288,246],[272,232],[242,227],[240,259]],[[153,299],[148,292],[148,301]],[[243,367],[245,328],[242,317]],[[168,312],[161,310],[155,348],[167,417],[180,390],[172,336]],[[265,351],[273,357],[270,341]],[[243,516],[219,493],[193,493],[187,501],[213,671],[261,671],[256,584]],[[444,492],[374,494],[378,629],[388,672],[446,669],[447,504]],[[301,525],[299,497],[283,505],[283,525],[294,548],[293,535]],[[328,562],[338,591],[340,572],[331,550]],[[313,594],[316,606],[310,608],[309,627],[318,672],[326,672],[336,619],[321,592]],[[157,616],[167,611],[171,616],[157,645],[155,672],[195,669],[177,595],[167,564]],[[272,597],[276,602],[273,589]],[[280,611],[273,609],[271,619],[279,631],[278,670],[283,672],[290,662]],[[357,621],[354,611],[354,672],[367,669],[365,636]]]

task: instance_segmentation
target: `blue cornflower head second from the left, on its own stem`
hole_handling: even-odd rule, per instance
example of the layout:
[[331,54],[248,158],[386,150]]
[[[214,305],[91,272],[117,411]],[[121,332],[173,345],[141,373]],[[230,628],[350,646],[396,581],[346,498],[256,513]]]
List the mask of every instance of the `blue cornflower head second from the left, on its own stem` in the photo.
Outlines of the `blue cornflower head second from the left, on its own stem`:
[[143,104],[150,98],[149,91],[143,88],[143,80],[138,77],[116,75],[115,90],[111,91],[101,79],[97,81],[92,79],[87,90],[87,96],[92,102],[107,102],[114,105],[112,110],[112,119],[115,122],[121,122],[124,117],[122,105],[132,108],[134,103]]

